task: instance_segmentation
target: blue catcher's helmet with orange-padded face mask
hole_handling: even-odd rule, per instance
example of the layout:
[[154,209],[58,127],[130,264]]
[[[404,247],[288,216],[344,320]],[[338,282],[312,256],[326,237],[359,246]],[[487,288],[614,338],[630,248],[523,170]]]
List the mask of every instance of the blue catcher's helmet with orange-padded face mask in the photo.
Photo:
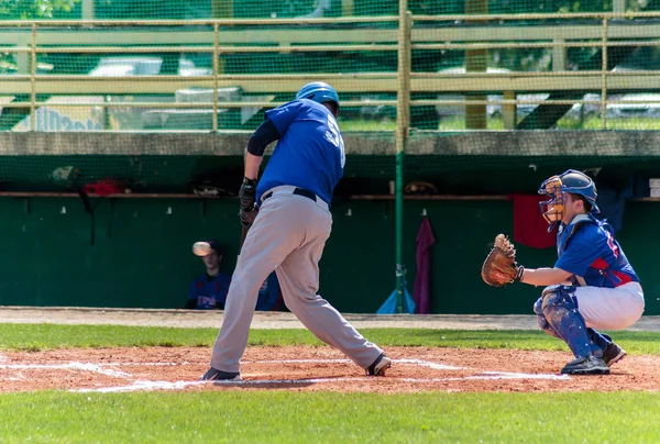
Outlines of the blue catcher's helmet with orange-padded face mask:
[[564,206],[568,195],[580,195],[592,206],[591,212],[600,212],[596,206],[596,186],[584,173],[569,169],[559,176],[552,176],[544,180],[539,188],[539,195],[546,195],[550,199],[539,202],[543,219],[550,224],[548,232],[561,222],[564,215]]

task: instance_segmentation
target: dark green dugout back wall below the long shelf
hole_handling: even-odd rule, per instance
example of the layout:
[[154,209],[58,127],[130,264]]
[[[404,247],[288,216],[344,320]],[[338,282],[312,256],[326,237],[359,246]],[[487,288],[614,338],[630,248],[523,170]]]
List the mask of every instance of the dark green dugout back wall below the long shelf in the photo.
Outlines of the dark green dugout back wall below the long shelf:
[[[228,245],[231,273],[240,225],[235,200],[103,199],[91,219],[77,198],[0,198],[0,304],[182,308],[204,271],[191,244]],[[488,243],[513,233],[510,201],[406,201],[407,288],[416,274],[415,238],[426,209],[432,247],[433,313],[531,313],[540,288],[487,287],[480,277]],[[628,202],[618,237],[646,290],[646,314],[660,313],[656,271],[658,202]],[[344,312],[375,312],[395,288],[394,201],[349,200],[334,209],[321,260],[320,293]],[[553,248],[518,247],[520,262],[552,264]]]

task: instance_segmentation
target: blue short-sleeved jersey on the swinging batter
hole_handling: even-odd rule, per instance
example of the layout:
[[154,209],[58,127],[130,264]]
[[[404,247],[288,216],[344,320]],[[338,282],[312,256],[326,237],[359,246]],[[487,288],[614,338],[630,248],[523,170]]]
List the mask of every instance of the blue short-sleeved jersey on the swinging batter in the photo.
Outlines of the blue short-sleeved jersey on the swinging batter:
[[279,141],[256,188],[256,201],[271,188],[289,185],[312,191],[330,204],[345,163],[334,115],[320,103],[299,99],[266,111],[266,116]]

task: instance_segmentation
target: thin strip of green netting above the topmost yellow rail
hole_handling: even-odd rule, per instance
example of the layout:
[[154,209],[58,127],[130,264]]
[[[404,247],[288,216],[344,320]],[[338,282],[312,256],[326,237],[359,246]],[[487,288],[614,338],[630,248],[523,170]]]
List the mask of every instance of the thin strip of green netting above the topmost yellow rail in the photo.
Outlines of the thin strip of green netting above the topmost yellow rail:
[[[0,3],[3,20],[301,18],[398,14],[398,1],[374,0],[18,0]],[[414,14],[583,13],[653,10],[632,0],[409,0]]]

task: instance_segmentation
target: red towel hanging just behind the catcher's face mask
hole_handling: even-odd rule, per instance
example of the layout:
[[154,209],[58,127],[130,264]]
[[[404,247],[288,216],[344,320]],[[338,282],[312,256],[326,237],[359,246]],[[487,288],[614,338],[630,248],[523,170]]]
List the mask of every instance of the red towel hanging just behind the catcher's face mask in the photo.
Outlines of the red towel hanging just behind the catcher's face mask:
[[557,229],[548,233],[550,226],[543,219],[539,202],[548,196],[514,195],[514,242],[532,248],[550,248],[557,244]]

